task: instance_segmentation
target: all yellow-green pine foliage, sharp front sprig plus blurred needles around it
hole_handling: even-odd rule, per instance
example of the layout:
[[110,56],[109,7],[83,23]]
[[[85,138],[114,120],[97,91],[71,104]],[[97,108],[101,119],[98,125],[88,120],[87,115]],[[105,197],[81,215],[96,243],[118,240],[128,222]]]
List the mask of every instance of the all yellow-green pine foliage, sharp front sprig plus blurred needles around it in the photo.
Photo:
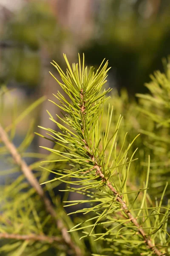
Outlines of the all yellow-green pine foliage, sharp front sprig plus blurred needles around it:
[[[0,174],[17,173],[15,180],[0,186],[0,255],[170,255],[169,64],[165,74],[157,72],[147,84],[151,95],[140,95],[136,103],[125,91],[119,96],[107,87],[107,61],[95,71],[85,67],[84,56],[72,65],[64,58],[65,72],[53,62],[61,90],[51,102],[62,117],[48,112],[57,129],[41,127],[54,148],[43,147],[48,156],[26,152],[32,123],[17,148],[21,162],[37,158],[27,167],[42,184],[43,196],[8,143],[17,125],[44,99],[19,116],[14,108],[8,127],[0,120],[8,139],[6,143],[0,133],[0,157],[9,166]],[[10,91],[1,87],[1,113],[6,93]],[[62,190],[62,201],[54,195],[56,187]],[[45,203],[49,199],[52,215]]]

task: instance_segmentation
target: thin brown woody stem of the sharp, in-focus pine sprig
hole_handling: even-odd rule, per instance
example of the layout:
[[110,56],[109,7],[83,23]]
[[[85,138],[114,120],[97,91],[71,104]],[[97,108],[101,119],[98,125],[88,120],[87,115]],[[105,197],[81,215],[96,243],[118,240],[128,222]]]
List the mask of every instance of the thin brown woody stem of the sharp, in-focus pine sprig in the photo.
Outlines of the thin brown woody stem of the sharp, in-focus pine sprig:
[[[82,116],[85,117],[85,101],[84,101],[84,95],[83,95],[83,90],[80,90],[80,98],[81,98],[81,102],[82,105],[80,105],[80,111],[82,113]],[[83,111],[82,111],[82,107],[83,107]],[[83,123],[85,124],[84,120],[82,120]],[[84,129],[85,127],[82,127],[82,132],[84,133]],[[102,173],[102,169],[99,166],[99,164],[97,163],[97,160],[95,159],[94,155],[89,154],[90,152],[90,147],[87,143],[87,141],[85,141],[85,139],[83,139],[83,142],[85,143],[85,148],[87,150],[87,154],[91,157],[91,160],[94,162],[94,169],[96,169],[96,175],[99,175],[99,177],[101,177],[101,179],[103,180],[103,182],[108,186],[109,189],[111,189],[111,191],[113,192],[113,195],[116,196],[116,201],[118,201],[121,205],[122,205],[122,209],[124,210],[124,212],[126,213],[127,217],[130,219],[130,221],[137,227],[138,232],[142,235],[145,243],[147,244],[147,246],[149,247],[150,250],[154,251],[154,253],[158,256],[161,256],[162,253],[153,245],[152,241],[146,236],[144,230],[142,229],[142,227],[139,226],[138,221],[136,220],[136,218],[133,217],[133,215],[130,213],[129,209],[127,208],[126,203],[123,201],[122,197],[118,194],[118,192],[116,191],[116,189],[114,189],[114,187],[112,186],[112,184],[110,183],[110,181],[108,179],[105,178],[104,174]]]

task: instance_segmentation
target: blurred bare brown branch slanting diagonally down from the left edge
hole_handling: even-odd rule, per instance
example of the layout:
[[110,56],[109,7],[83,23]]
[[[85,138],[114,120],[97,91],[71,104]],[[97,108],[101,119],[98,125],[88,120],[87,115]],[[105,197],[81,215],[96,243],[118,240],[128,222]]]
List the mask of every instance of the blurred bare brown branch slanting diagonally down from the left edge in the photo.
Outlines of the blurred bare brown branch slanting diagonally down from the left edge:
[[10,152],[11,156],[15,160],[18,166],[20,166],[20,169],[22,170],[23,174],[27,178],[28,182],[31,184],[32,187],[36,190],[37,194],[42,198],[42,201],[45,205],[45,208],[47,212],[51,215],[52,218],[55,219],[57,228],[62,233],[62,238],[65,241],[68,246],[74,250],[74,253],[76,256],[81,256],[81,250],[79,247],[77,247],[74,242],[71,240],[71,236],[68,234],[68,230],[65,227],[65,225],[62,223],[61,219],[57,218],[56,211],[54,207],[52,206],[50,200],[46,197],[42,187],[38,183],[37,179],[34,177],[33,173],[31,172],[31,169],[28,167],[26,162],[21,158],[20,154],[17,152],[17,148],[14,146],[13,143],[10,142],[8,138],[8,134],[3,129],[3,127],[0,125],[0,138],[4,145],[6,145],[6,148]]

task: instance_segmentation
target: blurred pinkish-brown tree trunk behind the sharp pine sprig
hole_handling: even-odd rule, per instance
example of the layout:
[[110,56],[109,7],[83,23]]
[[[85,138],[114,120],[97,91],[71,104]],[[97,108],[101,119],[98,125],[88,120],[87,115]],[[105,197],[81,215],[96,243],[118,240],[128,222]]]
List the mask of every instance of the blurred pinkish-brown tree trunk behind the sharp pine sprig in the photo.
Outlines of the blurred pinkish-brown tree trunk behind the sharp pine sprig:
[[[70,33],[70,36],[66,38],[62,43],[61,52],[64,52],[69,61],[74,62],[77,59],[77,49],[80,45],[85,44],[85,42],[90,38],[91,32],[93,30],[92,21],[92,3],[91,0],[50,0],[49,4],[55,12],[58,22],[63,29]],[[48,99],[52,99],[56,102],[56,98],[52,93],[56,93],[59,89],[59,85],[54,80],[54,78],[49,74],[49,66],[44,63],[50,63],[51,59],[49,53],[42,49],[42,84],[41,84],[41,94],[47,96]],[[55,74],[58,76],[58,74]],[[59,77],[57,77],[59,79]],[[54,104],[46,100],[42,105],[40,125],[43,127],[48,127],[56,130],[57,126],[54,122],[48,119],[48,110],[54,118],[57,118],[56,113],[60,115],[59,108],[56,108]],[[45,135],[45,131],[41,129],[41,134]],[[46,147],[52,147],[52,142],[44,140],[39,137],[38,145],[45,145]],[[46,153],[46,150],[40,148],[41,153]]]

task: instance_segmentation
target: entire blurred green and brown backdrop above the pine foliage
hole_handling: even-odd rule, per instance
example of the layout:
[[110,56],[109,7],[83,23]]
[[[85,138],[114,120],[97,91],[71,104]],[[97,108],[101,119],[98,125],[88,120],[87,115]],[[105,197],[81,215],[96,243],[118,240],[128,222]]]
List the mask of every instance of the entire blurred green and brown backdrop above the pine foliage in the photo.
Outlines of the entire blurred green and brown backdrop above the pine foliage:
[[[109,86],[126,88],[130,97],[144,93],[144,82],[163,71],[162,58],[170,54],[170,0],[0,0],[0,86],[15,89],[5,98],[4,125],[14,119],[11,109],[21,113],[41,96],[53,99],[59,87],[49,71],[58,74],[50,62],[65,68],[63,52],[70,62],[84,52],[94,66],[108,59]],[[17,146],[33,117],[34,131],[54,128],[46,109],[58,111],[45,100],[17,127]],[[35,137],[28,151],[46,154],[39,145],[51,146]]]

